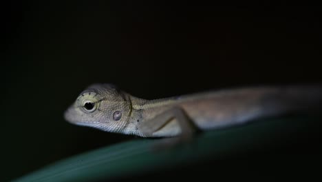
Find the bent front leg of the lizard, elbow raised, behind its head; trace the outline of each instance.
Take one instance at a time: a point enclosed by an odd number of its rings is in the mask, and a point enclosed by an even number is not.
[[[184,110],[178,106],[158,114],[149,121],[144,121],[138,125],[139,130],[144,136],[151,137],[153,133],[167,125],[171,120],[176,119],[181,129],[181,133],[177,139],[180,141],[190,139],[197,130],[194,123],[189,119]]]

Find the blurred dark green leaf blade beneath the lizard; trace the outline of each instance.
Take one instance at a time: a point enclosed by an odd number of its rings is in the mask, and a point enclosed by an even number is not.
[[[160,139],[133,139],[72,156],[16,181],[97,181],[178,168],[208,159],[227,159],[269,145],[283,145],[307,134],[321,119],[284,117],[197,134],[190,143],[152,150]],[[283,141],[281,143],[281,141]]]

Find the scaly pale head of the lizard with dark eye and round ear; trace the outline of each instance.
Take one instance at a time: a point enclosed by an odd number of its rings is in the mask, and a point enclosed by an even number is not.
[[[129,94],[111,84],[94,84],[81,92],[65,111],[69,123],[107,132],[122,132],[131,115]]]

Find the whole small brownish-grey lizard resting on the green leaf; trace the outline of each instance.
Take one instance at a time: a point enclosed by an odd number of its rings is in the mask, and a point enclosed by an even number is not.
[[[197,131],[319,110],[321,103],[322,85],[253,86],[147,100],[113,84],[95,83],[79,94],[64,117],[106,132],[189,139]]]

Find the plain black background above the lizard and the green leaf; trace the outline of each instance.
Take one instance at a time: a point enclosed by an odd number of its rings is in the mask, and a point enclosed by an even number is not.
[[[321,82],[320,6],[2,3],[0,181],[133,136],[70,125],[92,83],[145,99]]]

